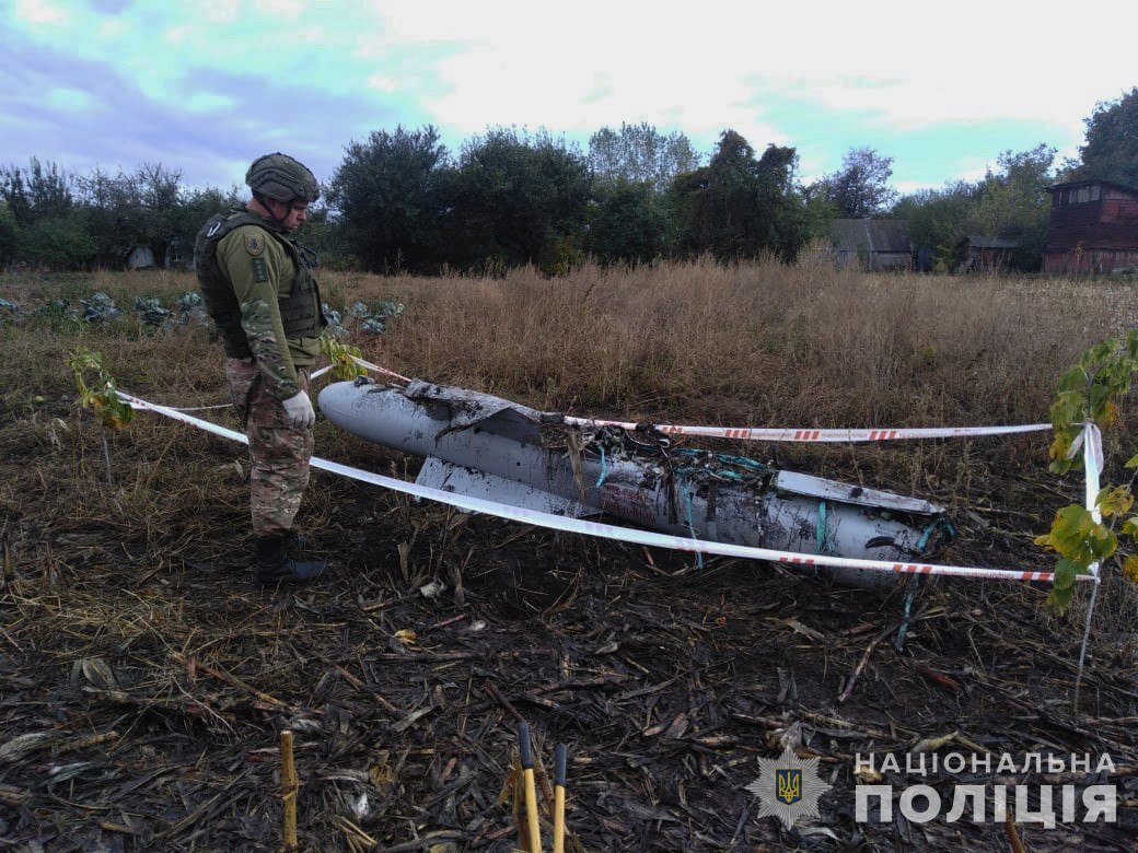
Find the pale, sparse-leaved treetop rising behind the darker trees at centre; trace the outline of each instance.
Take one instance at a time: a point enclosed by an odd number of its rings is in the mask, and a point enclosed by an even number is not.
[[[676,175],[699,165],[686,135],[677,131],[663,136],[646,122],[621,123],[619,131],[602,127],[588,140],[588,166],[603,183],[649,182],[662,191]]]

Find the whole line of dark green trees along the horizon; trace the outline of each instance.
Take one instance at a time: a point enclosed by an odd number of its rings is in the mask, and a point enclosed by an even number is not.
[[[495,127],[452,154],[434,126],[353,140],[300,239],[325,263],[370,272],[495,272],[534,264],[564,272],[584,258],[649,263],[710,254],[793,262],[824,241],[835,217],[901,218],[915,245],[954,268],[960,241],[1016,243],[1020,268],[1039,267],[1049,196],[1059,181],[1138,187],[1138,88],[1085,119],[1079,158],[1055,165],[1048,146],[1005,151],[974,182],[898,196],[893,160],[852,148],[841,168],[805,183],[792,147],[757,151],[733,130],[704,157],[683,133],[648,124],[604,127],[587,148],[550,133]],[[115,267],[149,250],[187,263],[201,222],[245,191],[193,189],[181,173],[69,175],[32,158],[0,167],[0,268]]]

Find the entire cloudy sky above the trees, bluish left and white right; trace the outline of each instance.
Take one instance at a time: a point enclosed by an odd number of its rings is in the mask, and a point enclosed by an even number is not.
[[[621,122],[793,146],[809,180],[850,148],[905,192],[1005,150],[1074,156],[1138,85],[1138,5],[702,0],[0,0],[0,164],[180,169],[241,183],[272,150],[328,181],[374,130],[569,142]],[[1119,40],[1112,47],[1112,38]]]

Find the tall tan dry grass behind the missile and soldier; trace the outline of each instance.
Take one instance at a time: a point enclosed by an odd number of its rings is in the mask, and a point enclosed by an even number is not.
[[[77,340],[104,350],[123,384],[167,401],[221,388],[220,347],[199,326],[155,333],[130,307],[193,290],[185,273],[0,278],[26,315],[94,291],[124,318],[52,329],[8,323],[13,382],[66,387],[58,357]],[[729,425],[966,425],[1046,420],[1058,373],[1125,328],[1135,285],[1001,278],[864,275],[776,263],[708,260],[586,266],[550,279],[418,279],[330,273],[325,300],[394,298],[382,336],[349,336],[405,373],[546,409]],[[22,356],[23,354],[23,356]],[[13,363],[15,358],[15,363]],[[61,381],[60,381],[61,380]]]

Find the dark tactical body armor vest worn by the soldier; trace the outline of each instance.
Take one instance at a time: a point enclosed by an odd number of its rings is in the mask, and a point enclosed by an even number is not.
[[[217,263],[217,243],[226,234],[241,225],[256,225],[273,235],[278,243],[284,247],[292,263],[296,264],[296,278],[292,280],[291,292],[278,299],[281,323],[286,338],[318,338],[321,330],[328,325],[320,303],[320,288],[312,274],[315,266],[315,255],[300,248],[282,232],[274,230],[261,216],[245,208],[234,208],[229,213],[218,213],[209,217],[193,242],[193,267],[201,287],[201,297],[206,310],[221,330],[225,345],[225,355],[230,358],[250,358],[253,351],[241,328],[241,306],[237,303],[233,289]],[[310,255],[313,260],[310,260]]]

